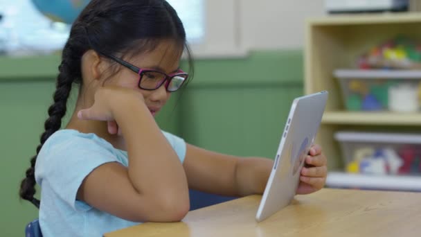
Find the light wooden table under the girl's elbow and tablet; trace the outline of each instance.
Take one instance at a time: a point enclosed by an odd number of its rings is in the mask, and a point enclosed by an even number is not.
[[[260,195],[190,211],[182,222],[147,222],[126,236],[421,236],[421,193],[322,189],[255,221]]]

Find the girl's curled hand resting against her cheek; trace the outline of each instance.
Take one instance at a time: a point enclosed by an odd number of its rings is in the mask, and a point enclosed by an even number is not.
[[[116,107],[124,106],[128,100],[143,101],[140,92],[123,87],[100,87],[94,96],[93,105],[78,112],[79,119],[108,121],[108,130],[111,134],[118,132],[114,119]],[[129,109],[129,108],[128,108]]]

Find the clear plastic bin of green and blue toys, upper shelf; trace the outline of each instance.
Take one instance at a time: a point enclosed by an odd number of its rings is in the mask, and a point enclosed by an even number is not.
[[[343,107],[350,111],[420,111],[421,70],[338,69]]]

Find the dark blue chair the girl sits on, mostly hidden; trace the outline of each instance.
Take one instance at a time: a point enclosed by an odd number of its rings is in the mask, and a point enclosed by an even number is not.
[[[190,190],[190,211],[202,207],[208,207],[221,202],[227,202],[235,199],[234,197],[225,197],[211,193],[204,193],[201,191]],[[25,228],[26,237],[42,237],[41,228],[39,227],[38,219],[33,220]]]

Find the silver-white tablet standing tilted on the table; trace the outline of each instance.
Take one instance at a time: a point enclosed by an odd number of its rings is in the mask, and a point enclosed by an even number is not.
[[[300,170],[319,130],[326,100],[327,91],[294,99],[256,214],[258,222],[283,209],[294,198]]]

